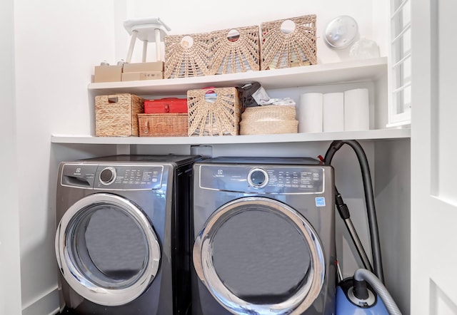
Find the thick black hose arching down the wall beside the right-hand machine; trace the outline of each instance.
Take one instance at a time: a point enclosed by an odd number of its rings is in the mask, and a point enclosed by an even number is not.
[[[380,281],[384,282],[383,267],[381,261],[381,243],[379,241],[378,220],[376,219],[376,208],[374,205],[373,184],[371,182],[370,167],[366,159],[363,148],[356,140],[336,140],[333,141],[326,152],[324,162],[331,164],[333,155],[343,145],[350,145],[357,155],[358,163],[361,167],[363,190],[365,192],[366,211],[368,217],[368,227],[371,239],[371,252],[373,254],[373,272]],[[338,191],[338,190],[336,190]]]

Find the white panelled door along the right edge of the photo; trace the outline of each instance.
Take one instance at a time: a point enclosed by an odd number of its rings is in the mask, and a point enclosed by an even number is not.
[[[457,314],[457,1],[414,0],[411,314]]]

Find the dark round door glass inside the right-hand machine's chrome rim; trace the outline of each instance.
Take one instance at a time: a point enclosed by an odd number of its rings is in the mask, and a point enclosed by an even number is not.
[[[311,257],[306,239],[285,217],[264,207],[249,207],[229,217],[212,244],[219,278],[250,303],[286,301],[308,277]]]

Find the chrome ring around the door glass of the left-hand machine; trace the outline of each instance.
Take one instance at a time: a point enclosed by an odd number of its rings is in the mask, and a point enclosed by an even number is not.
[[[131,217],[139,224],[146,237],[146,243],[149,249],[146,267],[134,284],[123,289],[107,289],[97,286],[79,271],[70,258],[71,254],[69,251],[71,248],[68,248],[66,238],[69,223],[75,215],[81,215],[81,212],[84,212],[87,207],[97,204],[116,205],[127,210]],[[55,250],[59,269],[69,286],[85,299],[106,306],[123,305],[140,296],[148,288],[149,284],[151,284],[154,277],[156,277],[161,259],[159,241],[144,213],[141,212],[139,207],[129,202],[129,200],[106,193],[86,196],[69,207],[69,210],[65,212],[57,226]]]

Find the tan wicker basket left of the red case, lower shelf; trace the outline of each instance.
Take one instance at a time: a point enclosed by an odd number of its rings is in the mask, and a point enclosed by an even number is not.
[[[138,136],[137,114],[143,113],[144,99],[134,94],[95,97],[95,133],[98,137]]]

